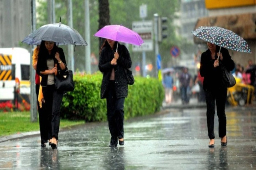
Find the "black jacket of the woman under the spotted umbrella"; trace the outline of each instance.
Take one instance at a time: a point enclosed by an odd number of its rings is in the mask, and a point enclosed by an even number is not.
[[[217,53],[219,52],[220,47],[216,46],[216,56],[215,60],[218,58]],[[235,63],[231,59],[229,52],[227,49],[221,47],[220,52],[222,53],[223,59],[219,59],[219,64],[223,64],[224,67],[228,71],[231,71],[235,68]],[[201,62],[200,62],[200,74],[204,77],[203,80],[203,89],[204,90],[213,90],[213,89],[220,89],[225,88],[224,84],[222,83],[222,70],[220,65],[214,68],[213,63],[215,60],[211,59],[211,51],[208,49],[201,55]]]

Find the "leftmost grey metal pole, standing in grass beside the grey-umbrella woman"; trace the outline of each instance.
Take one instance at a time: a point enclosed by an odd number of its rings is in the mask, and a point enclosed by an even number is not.
[[[31,24],[32,32],[34,32],[36,30],[36,0],[31,0],[31,23],[32,23]],[[33,49],[31,49],[31,54],[33,54]],[[32,57],[30,57],[30,121],[31,122],[37,122],[37,98],[36,98],[35,74],[36,74],[35,70],[32,66]]]

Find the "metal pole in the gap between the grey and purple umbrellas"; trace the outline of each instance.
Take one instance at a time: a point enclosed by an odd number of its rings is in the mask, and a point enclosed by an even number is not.
[[[89,11],[89,0],[84,0],[85,3],[85,41],[88,46],[85,46],[85,72],[91,74],[91,40],[90,40],[90,11]]]

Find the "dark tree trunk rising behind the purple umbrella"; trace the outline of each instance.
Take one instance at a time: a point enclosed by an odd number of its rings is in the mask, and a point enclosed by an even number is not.
[[[99,0],[99,30],[106,25],[110,25],[108,0]],[[99,38],[99,49],[104,42],[104,38]]]

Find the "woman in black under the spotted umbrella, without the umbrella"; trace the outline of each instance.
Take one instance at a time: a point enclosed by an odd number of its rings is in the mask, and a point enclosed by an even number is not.
[[[215,100],[217,107],[217,115],[219,118],[219,137],[221,138],[221,146],[226,146],[226,125],[227,118],[225,114],[225,104],[227,100],[227,87],[222,83],[222,70],[220,64],[231,71],[235,67],[234,61],[231,59],[229,52],[225,48],[221,48],[219,53],[219,46],[207,42],[208,50],[202,53],[200,61],[200,74],[204,77],[203,89],[207,104],[207,128],[208,136],[210,138],[209,148],[214,148],[214,114],[215,114]],[[219,55],[219,60],[217,60]]]

